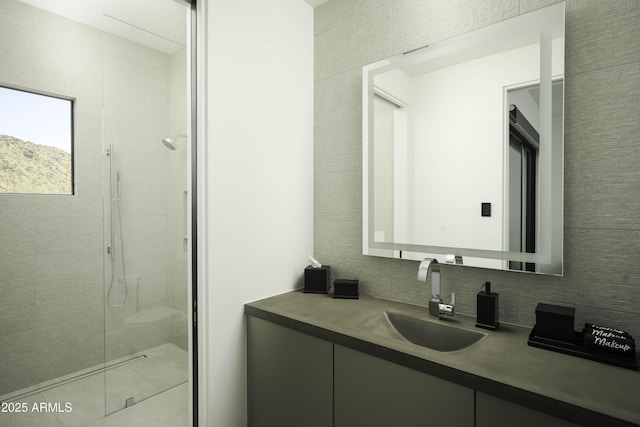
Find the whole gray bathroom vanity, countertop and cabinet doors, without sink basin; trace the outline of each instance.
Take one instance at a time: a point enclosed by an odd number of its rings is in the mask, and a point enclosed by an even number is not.
[[[422,351],[387,314],[424,311],[300,291],[245,305],[250,425],[640,427],[639,372],[527,346],[513,325],[468,351]]]

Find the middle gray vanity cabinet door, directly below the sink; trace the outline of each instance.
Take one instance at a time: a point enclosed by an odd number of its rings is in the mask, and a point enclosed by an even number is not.
[[[334,344],[334,426],[474,425],[470,388]]]

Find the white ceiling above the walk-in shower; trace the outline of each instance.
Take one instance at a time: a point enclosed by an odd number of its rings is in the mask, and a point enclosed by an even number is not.
[[[189,9],[180,0],[20,1],[167,53],[186,45]]]

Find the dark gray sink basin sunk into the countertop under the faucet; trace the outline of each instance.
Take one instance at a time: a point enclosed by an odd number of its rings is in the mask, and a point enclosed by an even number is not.
[[[384,314],[393,329],[404,339],[432,350],[442,352],[463,350],[487,336],[484,332],[416,319],[399,313],[385,311]]]

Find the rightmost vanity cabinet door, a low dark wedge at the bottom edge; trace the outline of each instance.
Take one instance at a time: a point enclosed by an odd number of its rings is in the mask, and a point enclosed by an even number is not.
[[[476,392],[476,427],[579,427],[545,413]]]

